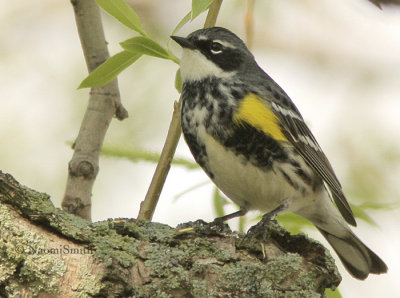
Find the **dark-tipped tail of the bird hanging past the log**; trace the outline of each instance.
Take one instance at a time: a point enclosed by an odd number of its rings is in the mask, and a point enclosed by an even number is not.
[[[341,229],[336,235],[323,228],[317,228],[335,250],[347,271],[355,278],[365,279],[370,273],[387,272],[387,266],[381,258],[362,243],[347,225],[345,230]]]

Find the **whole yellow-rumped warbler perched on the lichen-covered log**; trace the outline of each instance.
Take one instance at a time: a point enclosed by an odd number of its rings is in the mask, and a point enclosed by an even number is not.
[[[386,272],[346,224],[356,225],[353,212],[300,112],[243,41],[220,27],[171,38],[183,49],[185,140],[211,180],[241,208],[223,219],[252,209],[292,212],[318,228],[354,277]]]

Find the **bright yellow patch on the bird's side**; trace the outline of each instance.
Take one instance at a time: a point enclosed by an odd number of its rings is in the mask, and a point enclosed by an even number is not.
[[[277,141],[287,141],[279,126],[279,120],[257,95],[250,93],[240,103],[238,110],[233,115],[237,124],[247,122],[255,128],[261,129]]]

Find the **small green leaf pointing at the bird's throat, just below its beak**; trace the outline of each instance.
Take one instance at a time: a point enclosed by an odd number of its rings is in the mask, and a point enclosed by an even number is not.
[[[130,52],[168,59],[179,64],[178,58],[172,56],[166,49],[149,37],[136,36],[121,42],[121,46],[124,50]]]

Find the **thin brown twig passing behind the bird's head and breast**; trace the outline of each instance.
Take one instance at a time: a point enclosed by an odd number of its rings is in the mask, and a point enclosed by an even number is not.
[[[204,28],[215,26],[219,9],[222,0],[214,0],[208,9]],[[140,204],[138,219],[151,220],[158,203],[165,180],[167,179],[168,171],[171,167],[171,161],[174,156],[176,146],[178,145],[181,136],[181,120],[180,120],[180,101],[174,103],[174,113],[169,125],[167,138],[161,152],[160,161],[157,164],[156,170],[151,180],[144,201]]]

